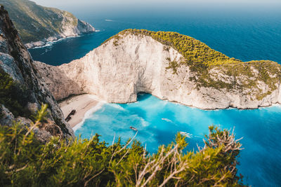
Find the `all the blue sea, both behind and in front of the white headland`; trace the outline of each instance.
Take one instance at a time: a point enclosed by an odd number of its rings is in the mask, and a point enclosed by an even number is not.
[[[164,1],[166,2],[166,1]],[[176,7],[176,8],[175,8]],[[281,64],[280,6],[175,6],[160,7],[58,7],[71,11],[96,27],[96,32],[47,43],[30,49],[34,60],[60,65],[79,59],[100,46],[105,39],[124,29],[178,32],[192,36],[211,48],[244,62],[273,60]],[[234,130],[244,148],[238,158],[243,182],[251,186],[281,186],[281,106],[254,110],[204,111],[162,101],[149,94],[138,95],[130,104],[102,104],[89,113],[75,134],[90,138],[100,134],[111,144],[114,137],[133,137],[155,153],[169,144],[177,132],[188,133],[188,150],[203,146],[209,125]]]

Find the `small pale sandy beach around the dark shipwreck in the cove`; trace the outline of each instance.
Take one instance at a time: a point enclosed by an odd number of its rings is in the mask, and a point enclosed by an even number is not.
[[[73,128],[75,125],[81,123],[85,116],[85,113],[96,106],[98,103],[98,99],[95,95],[85,94],[66,99],[63,102],[60,102],[59,105],[60,109],[63,111],[63,116],[65,116],[65,118],[68,116],[68,114],[70,114],[72,110],[76,110],[74,116],[71,116],[71,120],[68,121],[70,126]]]

